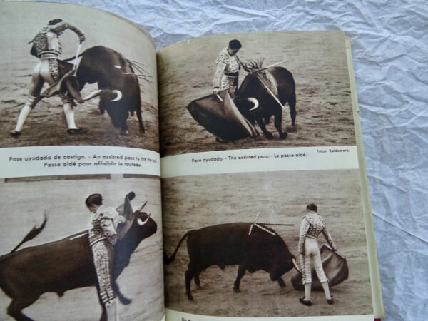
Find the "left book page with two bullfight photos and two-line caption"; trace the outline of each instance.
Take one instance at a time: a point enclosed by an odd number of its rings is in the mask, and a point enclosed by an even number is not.
[[[0,320],[164,320],[153,40],[84,6],[0,14]]]

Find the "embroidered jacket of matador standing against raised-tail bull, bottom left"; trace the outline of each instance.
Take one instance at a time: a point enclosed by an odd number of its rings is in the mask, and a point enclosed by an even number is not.
[[[126,218],[119,215],[114,208],[101,205],[93,214],[91,228],[89,228],[89,244],[92,246],[100,240],[108,240],[115,245],[118,240],[116,228],[119,223],[125,222]]]

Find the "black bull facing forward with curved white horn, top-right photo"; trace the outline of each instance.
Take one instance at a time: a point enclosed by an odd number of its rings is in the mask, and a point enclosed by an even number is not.
[[[254,125],[257,122],[268,139],[272,139],[273,135],[267,131],[266,125],[273,116],[280,138],[287,138],[287,131],[282,131],[282,106],[285,103],[290,108],[290,131],[295,131],[296,120],[295,81],[292,73],[278,66],[262,68],[261,62],[243,64],[243,68],[248,71],[248,75],[234,99],[236,107],[250,123]],[[254,108],[252,99],[257,100],[258,108]]]

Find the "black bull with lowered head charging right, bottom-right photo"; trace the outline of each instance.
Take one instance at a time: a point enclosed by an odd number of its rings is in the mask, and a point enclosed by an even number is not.
[[[185,292],[189,300],[193,300],[190,282],[194,278],[200,286],[199,273],[211,265],[224,269],[226,265],[238,265],[238,275],[233,283],[233,290],[240,291],[240,280],[245,271],[264,270],[269,273],[270,280],[277,281],[281,287],[285,282],[281,276],[292,270],[295,256],[288,250],[287,244],[272,229],[272,235],[265,230],[253,226],[252,223],[226,223],[208,226],[200,230],[190,230],[183,235],[170,258],[164,253],[164,263],[169,264],[175,259],[178,248],[185,238],[190,262],[185,271]],[[251,233],[250,232],[251,228]]]

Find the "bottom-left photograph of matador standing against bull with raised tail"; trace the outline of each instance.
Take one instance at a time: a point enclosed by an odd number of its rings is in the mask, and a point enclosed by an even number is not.
[[[162,320],[159,178],[0,183],[0,320]]]

